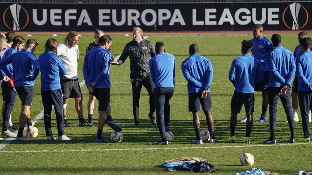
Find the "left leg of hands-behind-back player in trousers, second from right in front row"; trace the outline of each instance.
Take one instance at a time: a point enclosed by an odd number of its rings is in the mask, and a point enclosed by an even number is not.
[[[270,138],[264,140],[262,143],[276,143],[275,129],[276,129],[276,118],[277,118],[277,105],[279,100],[280,88],[269,88],[268,100],[269,100],[269,113],[270,113]]]

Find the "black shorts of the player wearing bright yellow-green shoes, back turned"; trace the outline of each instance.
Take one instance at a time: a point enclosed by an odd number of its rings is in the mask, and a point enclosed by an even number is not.
[[[231,110],[240,113],[242,105],[245,106],[246,113],[254,112],[254,93],[241,93],[234,91],[231,99]]]

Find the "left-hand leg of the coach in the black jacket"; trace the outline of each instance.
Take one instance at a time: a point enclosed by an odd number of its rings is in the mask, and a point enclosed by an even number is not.
[[[143,82],[131,79],[131,87],[132,87],[132,109],[133,109],[133,117],[135,119],[135,127],[139,127],[139,111],[140,111],[140,95],[141,95],[141,88]]]

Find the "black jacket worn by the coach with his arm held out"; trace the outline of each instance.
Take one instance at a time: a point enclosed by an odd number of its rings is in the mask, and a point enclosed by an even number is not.
[[[119,65],[130,57],[130,78],[145,79],[150,76],[149,61],[155,56],[155,48],[151,41],[143,39],[140,44],[131,41],[126,44],[120,58],[117,60]]]

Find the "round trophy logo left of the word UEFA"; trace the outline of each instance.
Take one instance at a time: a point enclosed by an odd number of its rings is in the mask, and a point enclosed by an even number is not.
[[[11,15],[12,15],[12,18],[13,18],[13,23],[8,23],[7,21],[10,21],[8,20],[7,18],[10,18],[9,16],[6,17],[7,15],[7,11],[10,9],[11,11]],[[25,19],[26,20],[22,20],[20,21],[20,15],[21,13],[23,13],[22,15],[22,19]],[[26,22],[25,22],[26,21]],[[10,29],[10,30],[14,30],[14,31],[19,31],[19,30],[22,30],[24,29],[28,22],[29,22],[29,14],[28,12],[26,11],[25,8],[23,8],[20,4],[13,4],[13,5],[10,5],[9,8],[5,9],[4,13],[3,13],[3,22],[4,22],[4,25]],[[22,27],[20,26],[20,24],[24,24],[22,25]]]

